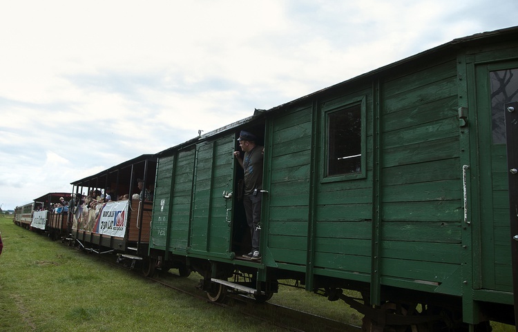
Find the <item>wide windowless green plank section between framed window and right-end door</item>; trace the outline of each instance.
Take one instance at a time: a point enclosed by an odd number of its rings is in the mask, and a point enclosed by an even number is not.
[[[381,275],[439,285],[461,264],[455,59],[381,85]]]

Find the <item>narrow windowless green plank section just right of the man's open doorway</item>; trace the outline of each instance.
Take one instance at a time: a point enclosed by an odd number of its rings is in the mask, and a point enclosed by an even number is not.
[[[306,264],[311,121],[311,106],[272,121],[267,245],[278,263]]]

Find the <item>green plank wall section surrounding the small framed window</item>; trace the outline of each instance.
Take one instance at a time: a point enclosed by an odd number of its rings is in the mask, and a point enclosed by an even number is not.
[[[371,271],[372,253],[372,82],[365,81],[349,86],[342,93],[319,101],[319,117],[327,110],[341,108],[352,100],[365,98],[366,113],[365,158],[366,176],[359,179],[345,179],[324,182],[324,163],[316,168],[315,189],[315,245],[314,268],[316,273],[335,276],[346,274],[352,279],[365,280],[362,276]],[[327,130],[321,120],[318,135],[325,137]],[[325,141],[320,139],[318,157],[325,160]],[[329,179],[329,178],[328,178]]]

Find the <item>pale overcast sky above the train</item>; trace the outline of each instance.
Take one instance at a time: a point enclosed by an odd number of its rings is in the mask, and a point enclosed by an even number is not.
[[[517,17],[517,0],[2,1],[0,207]]]

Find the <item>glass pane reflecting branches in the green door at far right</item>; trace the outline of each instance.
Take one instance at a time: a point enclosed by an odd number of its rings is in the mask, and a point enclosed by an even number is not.
[[[506,124],[503,121],[503,104],[518,98],[518,69],[490,72],[493,144],[506,143]]]

